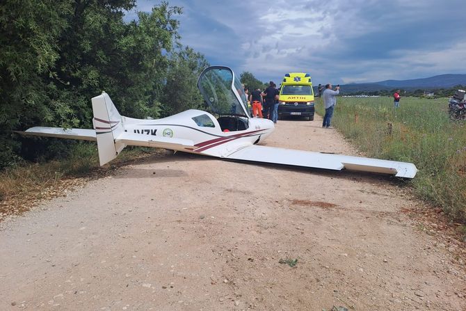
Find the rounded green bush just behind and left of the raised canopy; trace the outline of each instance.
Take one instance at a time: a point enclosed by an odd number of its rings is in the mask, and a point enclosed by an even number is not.
[[[172,115],[190,108],[202,107],[197,81],[209,63],[190,47],[175,51],[170,58],[166,85],[163,88],[163,115]]]

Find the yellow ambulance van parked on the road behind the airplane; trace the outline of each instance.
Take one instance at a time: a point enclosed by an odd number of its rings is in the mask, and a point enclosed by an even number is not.
[[[285,74],[278,98],[278,118],[298,115],[314,120],[314,90],[311,75],[304,72]]]

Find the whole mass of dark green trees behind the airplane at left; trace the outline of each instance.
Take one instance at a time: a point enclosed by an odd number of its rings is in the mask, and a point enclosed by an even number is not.
[[[0,3],[0,168],[18,159],[11,130],[91,127],[90,98],[102,90],[134,118],[202,102],[193,77],[207,61],[192,49],[173,51],[181,8],[161,2],[124,22],[124,11],[134,7],[135,0]],[[177,84],[177,75],[188,79]],[[49,154],[70,144],[52,142]]]

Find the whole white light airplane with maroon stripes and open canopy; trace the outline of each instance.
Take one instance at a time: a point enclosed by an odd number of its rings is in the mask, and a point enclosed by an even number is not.
[[[128,118],[118,113],[109,95],[102,93],[92,99],[94,129],[31,127],[20,133],[97,141],[101,166],[115,159],[127,145],[136,145],[266,164],[345,168],[405,178],[416,175],[416,166],[405,162],[257,145],[275,126],[271,120],[251,118],[243,87],[229,67],[204,70],[198,88],[218,118],[195,109],[158,120]]]

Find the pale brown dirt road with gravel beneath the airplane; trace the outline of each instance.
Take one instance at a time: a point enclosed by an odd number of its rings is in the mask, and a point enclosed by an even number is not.
[[[267,144],[356,154],[320,120]],[[154,157],[0,223],[0,310],[466,310],[413,204],[378,175]]]

